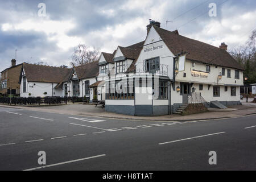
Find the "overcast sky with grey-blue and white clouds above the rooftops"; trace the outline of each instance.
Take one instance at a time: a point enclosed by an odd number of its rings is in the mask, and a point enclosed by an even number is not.
[[[38,16],[39,3],[46,16]],[[209,3],[217,16],[210,17]],[[191,0],[0,0],[0,71],[24,61],[69,65],[79,43],[112,53],[146,38],[148,19],[180,35],[228,49],[246,42],[256,28],[256,1]]]

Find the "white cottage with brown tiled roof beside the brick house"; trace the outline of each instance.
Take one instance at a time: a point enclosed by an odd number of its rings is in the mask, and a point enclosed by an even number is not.
[[[22,64],[20,71],[20,97],[64,96],[63,82],[72,69]]]

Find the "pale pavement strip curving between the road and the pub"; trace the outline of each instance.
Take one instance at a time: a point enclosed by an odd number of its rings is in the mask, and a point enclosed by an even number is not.
[[[227,109],[209,108],[209,112],[198,113],[191,115],[160,115],[152,117],[133,116],[125,114],[117,114],[106,112],[102,107],[94,105],[83,105],[83,104],[68,104],[60,106],[44,106],[44,107],[26,107],[26,106],[9,106],[0,105],[2,107],[12,107],[16,109],[26,109],[31,111],[44,111],[59,114],[75,114],[84,115],[89,117],[101,117],[101,118],[113,118],[113,119],[129,119],[137,121],[193,121],[193,120],[204,120],[204,119],[220,119],[230,117],[240,117],[243,115],[250,115],[256,113],[256,103],[251,103],[246,100],[241,100],[242,105],[229,106]]]

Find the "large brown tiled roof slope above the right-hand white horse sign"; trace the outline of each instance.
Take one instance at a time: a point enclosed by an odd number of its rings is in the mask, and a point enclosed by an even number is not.
[[[154,26],[154,28],[170,51],[175,55],[181,51],[185,51],[189,53],[186,56],[186,59],[189,60],[243,70],[241,65],[224,49],[186,38],[185,36],[179,35],[177,31],[171,32],[157,26]]]

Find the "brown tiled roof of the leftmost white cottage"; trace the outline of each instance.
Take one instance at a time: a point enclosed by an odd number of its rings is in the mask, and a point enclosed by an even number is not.
[[[67,81],[72,69],[23,63],[27,81],[59,83]]]

